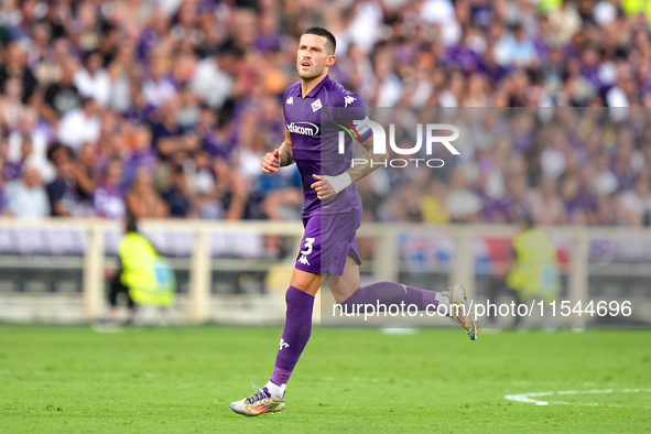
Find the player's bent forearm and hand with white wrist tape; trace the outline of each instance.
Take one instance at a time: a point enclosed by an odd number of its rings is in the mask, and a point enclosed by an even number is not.
[[[317,181],[312,184],[312,188],[316,191],[316,196],[319,199],[325,200],[333,197],[350,184],[358,182],[362,177],[369,175],[376,169],[384,165],[388,154],[373,153],[372,135],[365,140],[361,145],[365,149],[365,154],[361,159],[356,159],[356,161],[364,161],[364,163],[355,163],[355,165],[347,172],[344,172],[337,176],[313,175]]]

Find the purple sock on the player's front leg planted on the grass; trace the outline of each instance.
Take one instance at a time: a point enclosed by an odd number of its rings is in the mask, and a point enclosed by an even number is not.
[[[285,301],[287,303],[285,328],[280,339],[275,367],[271,375],[271,382],[276,386],[287,383],[312,334],[314,295],[290,286],[285,294]]]

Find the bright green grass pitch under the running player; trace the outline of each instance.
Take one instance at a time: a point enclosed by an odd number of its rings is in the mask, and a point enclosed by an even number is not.
[[[0,326],[2,433],[642,432],[651,332],[315,328],[286,409],[237,416],[281,329]],[[554,392],[535,395],[533,392]],[[561,393],[557,393],[561,392]],[[507,394],[547,400],[517,402]],[[538,397],[538,398],[535,398]]]

